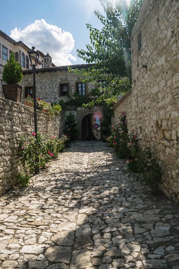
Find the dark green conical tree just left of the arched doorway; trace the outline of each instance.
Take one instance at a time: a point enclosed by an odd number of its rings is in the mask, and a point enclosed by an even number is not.
[[[78,136],[78,129],[75,115],[72,112],[67,115],[65,125],[66,134],[70,137],[72,141],[75,140]]]

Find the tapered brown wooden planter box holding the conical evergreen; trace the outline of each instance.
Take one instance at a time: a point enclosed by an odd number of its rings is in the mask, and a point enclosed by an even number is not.
[[[22,86],[18,84],[2,85],[4,97],[8,100],[21,103]]]

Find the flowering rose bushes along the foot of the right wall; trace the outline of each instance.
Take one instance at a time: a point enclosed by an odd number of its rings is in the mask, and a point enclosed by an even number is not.
[[[144,150],[138,145],[137,137],[132,129],[127,131],[126,114],[121,113],[119,123],[110,127],[111,135],[107,138],[110,146],[113,146],[119,158],[127,159],[128,168],[132,172],[142,173],[137,176],[141,182],[145,182],[154,192],[158,191],[161,182],[161,169],[158,166],[151,149]]]

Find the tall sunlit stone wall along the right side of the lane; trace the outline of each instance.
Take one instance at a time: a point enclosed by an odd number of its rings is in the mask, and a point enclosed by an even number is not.
[[[179,1],[145,0],[131,39],[132,91],[118,102],[112,121],[127,113],[128,129],[155,152],[162,191],[178,204]]]

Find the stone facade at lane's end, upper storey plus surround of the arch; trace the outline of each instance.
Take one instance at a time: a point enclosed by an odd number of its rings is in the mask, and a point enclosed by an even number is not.
[[[62,69],[65,67],[62,67]],[[81,82],[82,79],[80,76],[73,72],[69,72],[67,70],[58,70],[59,68],[44,68],[40,71],[37,71],[36,74],[36,97],[41,98],[44,101],[50,102],[50,103],[58,103],[59,100],[67,100],[67,96],[61,96],[60,93],[60,84],[61,83],[68,83],[68,95],[73,96],[73,94],[76,92],[76,83]],[[67,68],[66,68],[67,69]],[[29,74],[28,71],[24,72],[24,77],[22,82],[20,83],[22,85],[22,97],[21,102],[23,103],[25,100],[25,87],[33,86],[33,74]],[[94,88],[94,84],[92,83],[85,83],[85,94],[89,94],[92,88]],[[100,106],[94,106],[92,108],[85,108],[85,107],[77,107],[77,110],[71,111],[77,120],[78,124],[78,140],[82,139],[82,128],[81,123],[84,116],[87,114],[94,114],[97,113],[102,115],[101,107]],[[67,116],[70,113],[70,111],[66,111],[65,115]]]

